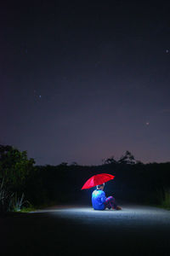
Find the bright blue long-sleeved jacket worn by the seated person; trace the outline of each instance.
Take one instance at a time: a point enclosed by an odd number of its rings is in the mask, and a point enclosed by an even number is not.
[[[92,193],[92,205],[94,210],[105,210],[105,192],[100,189],[95,189]]]

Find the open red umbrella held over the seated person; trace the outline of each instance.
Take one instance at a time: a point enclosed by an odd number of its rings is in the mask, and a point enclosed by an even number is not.
[[[114,179],[115,176],[108,173],[100,173],[90,177],[86,183],[82,186],[82,189],[90,189],[94,186],[106,183],[107,181]]]

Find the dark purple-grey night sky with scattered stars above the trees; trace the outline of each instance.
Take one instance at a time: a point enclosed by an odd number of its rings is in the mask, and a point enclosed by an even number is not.
[[[168,1],[7,2],[0,143],[37,165],[170,160]]]

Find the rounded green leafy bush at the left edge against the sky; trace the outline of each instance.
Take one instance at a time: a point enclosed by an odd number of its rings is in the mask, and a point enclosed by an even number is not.
[[[18,189],[26,181],[33,164],[26,151],[20,152],[12,146],[0,145],[0,178],[4,178],[8,189]]]

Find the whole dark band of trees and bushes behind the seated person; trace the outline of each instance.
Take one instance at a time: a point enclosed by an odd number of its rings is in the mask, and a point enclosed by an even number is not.
[[[26,151],[0,145],[0,211],[20,209],[23,194],[33,206],[90,204],[94,188],[81,190],[82,185],[102,172],[115,175],[114,180],[106,183],[105,193],[117,201],[161,204],[167,196],[169,205],[169,192],[165,191],[170,189],[170,162],[143,164],[127,151],[119,160],[111,157],[100,166],[35,166]]]

